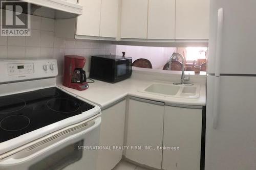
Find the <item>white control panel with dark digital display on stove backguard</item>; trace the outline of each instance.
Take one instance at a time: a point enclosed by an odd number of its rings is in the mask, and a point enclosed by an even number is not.
[[[8,64],[7,71],[9,76],[33,74],[34,64],[33,63]]]

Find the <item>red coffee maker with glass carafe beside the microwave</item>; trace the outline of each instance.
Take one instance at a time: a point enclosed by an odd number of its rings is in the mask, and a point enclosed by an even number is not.
[[[65,56],[63,85],[77,90],[86,90],[89,85],[86,81],[86,71],[82,68],[86,58],[76,55]]]

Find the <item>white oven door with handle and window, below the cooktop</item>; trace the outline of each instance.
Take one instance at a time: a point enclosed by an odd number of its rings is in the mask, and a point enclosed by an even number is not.
[[[96,169],[99,115],[0,155],[1,170]]]

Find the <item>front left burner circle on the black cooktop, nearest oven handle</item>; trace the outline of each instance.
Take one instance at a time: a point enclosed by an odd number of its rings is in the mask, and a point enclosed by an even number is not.
[[[11,115],[0,122],[0,127],[6,131],[19,131],[29,126],[30,119],[24,115]]]

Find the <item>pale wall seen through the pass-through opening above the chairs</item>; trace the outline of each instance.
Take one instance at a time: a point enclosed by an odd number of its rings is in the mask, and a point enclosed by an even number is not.
[[[176,47],[154,47],[154,46],[131,46],[117,45],[116,54],[132,57],[133,61],[139,58],[145,58],[151,61],[153,69],[162,69],[168,62],[169,57],[176,53]]]

